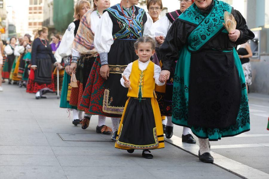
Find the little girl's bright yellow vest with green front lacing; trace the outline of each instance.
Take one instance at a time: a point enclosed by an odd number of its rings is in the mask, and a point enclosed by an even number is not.
[[[129,89],[127,96],[139,98],[139,91],[141,91],[142,98],[155,97],[155,79],[154,77],[154,63],[149,62],[146,70],[139,69],[138,60],[133,62],[132,72],[130,74],[130,82],[132,90]]]

